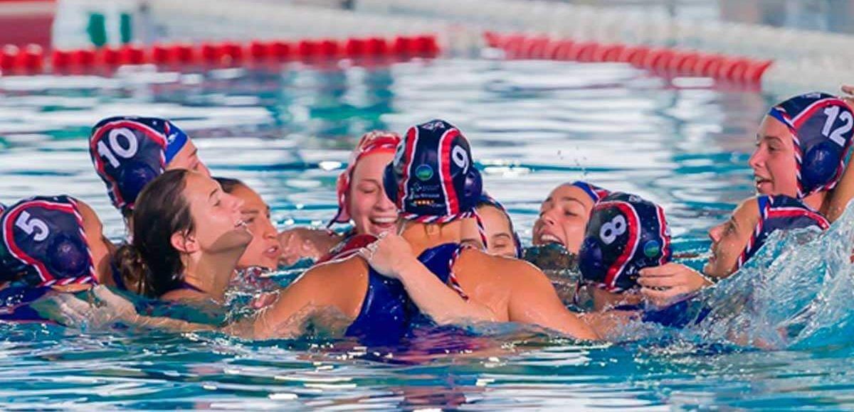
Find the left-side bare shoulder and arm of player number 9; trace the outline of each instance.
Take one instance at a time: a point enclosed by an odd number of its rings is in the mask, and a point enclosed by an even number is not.
[[[282,289],[254,321],[255,338],[300,334],[305,322],[334,310],[351,322],[359,316],[367,290],[368,266],[358,256],[319,264]]]

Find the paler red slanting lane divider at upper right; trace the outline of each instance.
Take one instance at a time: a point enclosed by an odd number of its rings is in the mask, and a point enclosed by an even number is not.
[[[510,59],[559,61],[619,61],[656,73],[717,78],[734,83],[758,84],[773,61],[745,56],[706,54],[696,50],[652,48],[644,45],[576,42],[521,34],[485,32],[489,47],[503,49]]]

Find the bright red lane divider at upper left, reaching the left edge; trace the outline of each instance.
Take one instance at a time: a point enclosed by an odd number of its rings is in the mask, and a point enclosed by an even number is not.
[[[37,74],[42,73],[45,66],[49,66],[54,72],[64,72],[149,63],[235,66],[266,61],[313,62],[349,58],[436,57],[439,52],[439,44],[432,35],[300,41],[253,40],[246,44],[153,44],[148,47],[126,44],[100,49],[53,49],[47,55],[41,47],[34,44],[24,49],[6,45],[0,47],[0,71],[3,74]]]

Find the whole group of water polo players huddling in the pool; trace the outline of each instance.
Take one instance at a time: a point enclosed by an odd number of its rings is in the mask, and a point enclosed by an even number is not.
[[[854,196],[854,172],[845,167],[852,125],[851,101],[842,97],[816,92],[771,107],[749,161],[757,195],[709,230],[711,257],[697,271],[671,262],[663,207],[588,182],[553,189],[533,246],[523,247],[506,210],[485,191],[463,132],[441,119],[402,136],[361,137],[338,177],[330,222],[348,229],[281,233],[260,195],[211,177],[171,121],[103,119],[91,131],[91,160],[124,217],[126,240],[114,246],[91,207],[71,196],[0,206],[0,319],[70,324],[106,316],[251,339],[293,337],[312,326],[368,341],[401,339],[425,320],[518,322],[576,339],[606,339],[621,324],[615,319],[678,328],[698,320],[682,316],[681,303],[736,273],[772,232],[824,230],[839,218]],[[544,273],[553,268],[536,265],[548,248],[570,256],[566,269],[580,272],[563,299]],[[222,303],[236,276],[306,258],[310,269],[261,296],[260,310],[225,324],[148,316],[125,299]],[[42,301],[54,310],[40,309]],[[570,301],[587,311],[568,309]]]

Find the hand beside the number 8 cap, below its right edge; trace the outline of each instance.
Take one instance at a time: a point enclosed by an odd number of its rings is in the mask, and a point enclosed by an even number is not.
[[[667,307],[686,299],[711,281],[684,264],[663,264],[640,270],[640,294],[652,305]]]

